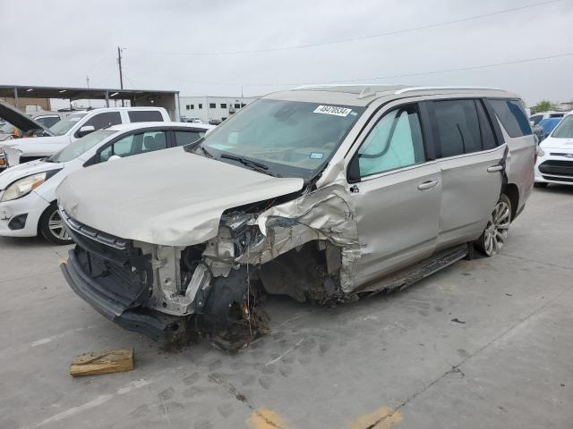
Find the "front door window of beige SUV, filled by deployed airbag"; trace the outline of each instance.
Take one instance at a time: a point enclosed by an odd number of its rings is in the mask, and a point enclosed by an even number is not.
[[[358,149],[360,176],[423,163],[422,127],[416,105],[384,114]]]

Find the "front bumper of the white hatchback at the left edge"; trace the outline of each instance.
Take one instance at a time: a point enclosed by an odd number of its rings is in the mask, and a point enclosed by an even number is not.
[[[0,196],[2,191],[0,191]],[[3,201],[0,203],[0,236],[4,237],[36,237],[38,235],[39,218],[47,209],[49,203],[32,191],[25,197]],[[24,227],[18,230],[10,228],[14,217],[27,214]]]

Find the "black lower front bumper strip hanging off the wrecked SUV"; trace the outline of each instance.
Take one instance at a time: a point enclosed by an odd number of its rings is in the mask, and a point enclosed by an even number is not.
[[[126,307],[124,302],[113,299],[81,269],[73,250],[68,261],[60,265],[66,282],[72,290],[99,314],[121,325],[128,331],[140,332],[159,342],[171,341],[182,328],[182,317],[164,315],[145,307]]]

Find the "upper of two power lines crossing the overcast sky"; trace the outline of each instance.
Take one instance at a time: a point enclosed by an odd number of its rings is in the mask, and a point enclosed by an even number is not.
[[[487,18],[487,17],[494,16],[494,15],[500,15],[503,13],[512,13],[512,12],[522,11],[524,9],[543,6],[546,4],[559,3],[562,1],[563,0],[549,0],[549,1],[541,2],[541,3],[527,4],[525,6],[503,9],[501,11],[492,12],[492,13],[482,13],[479,15],[468,16],[466,18],[459,18],[458,20],[440,21],[440,22],[434,22],[432,24],[422,25],[419,27],[412,27],[409,29],[397,29],[397,30],[393,30],[393,31],[385,31],[383,33],[372,34],[369,36],[359,36],[359,37],[355,37],[355,38],[343,38],[343,39],[339,39],[339,40],[331,40],[328,42],[319,42],[319,43],[309,43],[309,44],[305,44],[305,45],[278,46],[278,47],[269,47],[269,48],[263,48],[263,49],[248,49],[248,50],[238,50],[238,51],[187,52],[187,53],[185,53],[185,52],[167,52],[167,51],[150,51],[150,50],[143,50],[143,49],[137,49],[137,48],[130,48],[130,50],[133,50],[136,52],[143,52],[146,54],[158,54],[158,55],[216,56],[216,55],[259,54],[259,53],[266,53],[266,52],[286,51],[286,50],[293,50],[293,49],[304,49],[304,48],[308,48],[308,47],[327,46],[327,45],[335,45],[335,44],[339,44],[339,43],[356,42],[359,40],[366,40],[366,39],[371,39],[371,38],[382,38],[385,36],[392,36],[392,35],[396,35],[396,34],[412,32],[412,31],[419,31],[422,29],[433,29],[436,27],[444,26],[444,25],[451,25],[451,24],[457,24],[459,22],[478,20],[481,18]]]

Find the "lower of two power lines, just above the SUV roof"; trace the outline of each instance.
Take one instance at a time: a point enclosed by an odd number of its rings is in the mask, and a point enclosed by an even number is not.
[[[397,79],[397,78],[411,78],[415,76],[428,76],[432,74],[440,74],[440,73],[449,73],[452,71],[468,71],[468,70],[479,70],[479,69],[487,69],[492,67],[500,67],[504,65],[511,65],[511,64],[520,64],[520,63],[531,63],[534,61],[545,61],[551,60],[554,58],[562,58],[566,56],[573,56],[573,52],[564,53],[564,54],[556,54],[556,55],[547,55],[547,56],[537,56],[535,58],[524,58],[520,60],[514,61],[507,61],[503,63],[489,63],[489,64],[479,64],[479,65],[470,65],[466,67],[458,67],[454,69],[444,69],[444,70],[436,70],[436,71],[420,71],[415,73],[403,73],[403,74],[392,74],[386,76],[377,76],[373,78],[360,78],[360,79],[351,79],[351,80],[321,80],[321,81],[304,81],[304,82],[275,82],[275,83],[245,83],[245,82],[209,82],[209,81],[197,81],[197,80],[183,80],[178,78],[169,78],[167,76],[157,76],[152,75],[144,72],[140,72],[139,74],[149,76],[151,78],[156,79],[163,79],[163,80],[175,80],[184,83],[191,83],[194,85],[220,85],[220,86],[246,86],[246,87],[281,87],[281,86],[300,86],[300,85],[312,85],[312,84],[331,84],[331,83],[353,83],[353,82],[363,82],[363,81],[370,81],[370,80],[385,80],[385,79]]]

